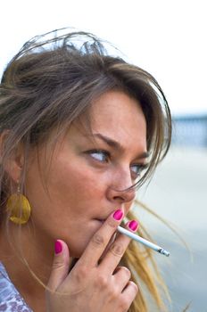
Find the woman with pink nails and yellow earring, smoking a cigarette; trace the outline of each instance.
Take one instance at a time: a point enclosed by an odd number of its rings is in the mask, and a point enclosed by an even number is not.
[[[138,280],[161,308],[151,251],[116,234],[169,149],[156,80],[91,34],[36,37],[4,70],[0,127],[0,310],[145,312]]]

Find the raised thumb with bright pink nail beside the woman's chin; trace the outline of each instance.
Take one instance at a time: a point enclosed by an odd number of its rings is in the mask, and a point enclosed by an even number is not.
[[[54,243],[54,262],[52,272],[47,283],[50,291],[56,291],[69,273],[69,249],[65,242],[57,240]]]

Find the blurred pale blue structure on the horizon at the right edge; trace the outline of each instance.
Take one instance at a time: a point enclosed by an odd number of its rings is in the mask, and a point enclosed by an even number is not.
[[[175,116],[172,144],[207,147],[207,115]]]

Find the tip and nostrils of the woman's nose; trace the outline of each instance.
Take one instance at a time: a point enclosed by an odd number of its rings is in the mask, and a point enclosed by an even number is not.
[[[121,176],[121,177],[120,177]],[[135,187],[131,187],[131,176],[129,173],[113,176],[113,181],[107,189],[107,199],[119,204],[133,201],[136,196]]]

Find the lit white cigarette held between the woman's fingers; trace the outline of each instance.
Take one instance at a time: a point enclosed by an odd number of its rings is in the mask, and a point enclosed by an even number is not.
[[[132,238],[133,240],[135,240],[137,242],[143,243],[146,247],[149,247],[152,250],[155,250],[155,251],[161,253],[161,255],[164,255],[166,257],[170,256],[170,252],[169,251],[164,250],[163,248],[161,248],[160,246],[156,245],[153,242],[149,242],[149,241],[145,240],[145,238],[142,238],[141,236],[139,236],[137,234],[129,232],[128,230],[126,230],[125,228],[123,228],[121,226],[118,226],[117,230],[121,234],[127,235],[128,237]]]

